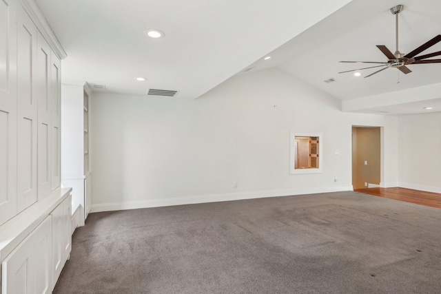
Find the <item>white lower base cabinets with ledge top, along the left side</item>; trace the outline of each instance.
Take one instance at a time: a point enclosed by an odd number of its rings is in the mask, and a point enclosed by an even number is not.
[[[0,227],[1,293],[52,293],[72,249],[71,189],[57,191]]]

